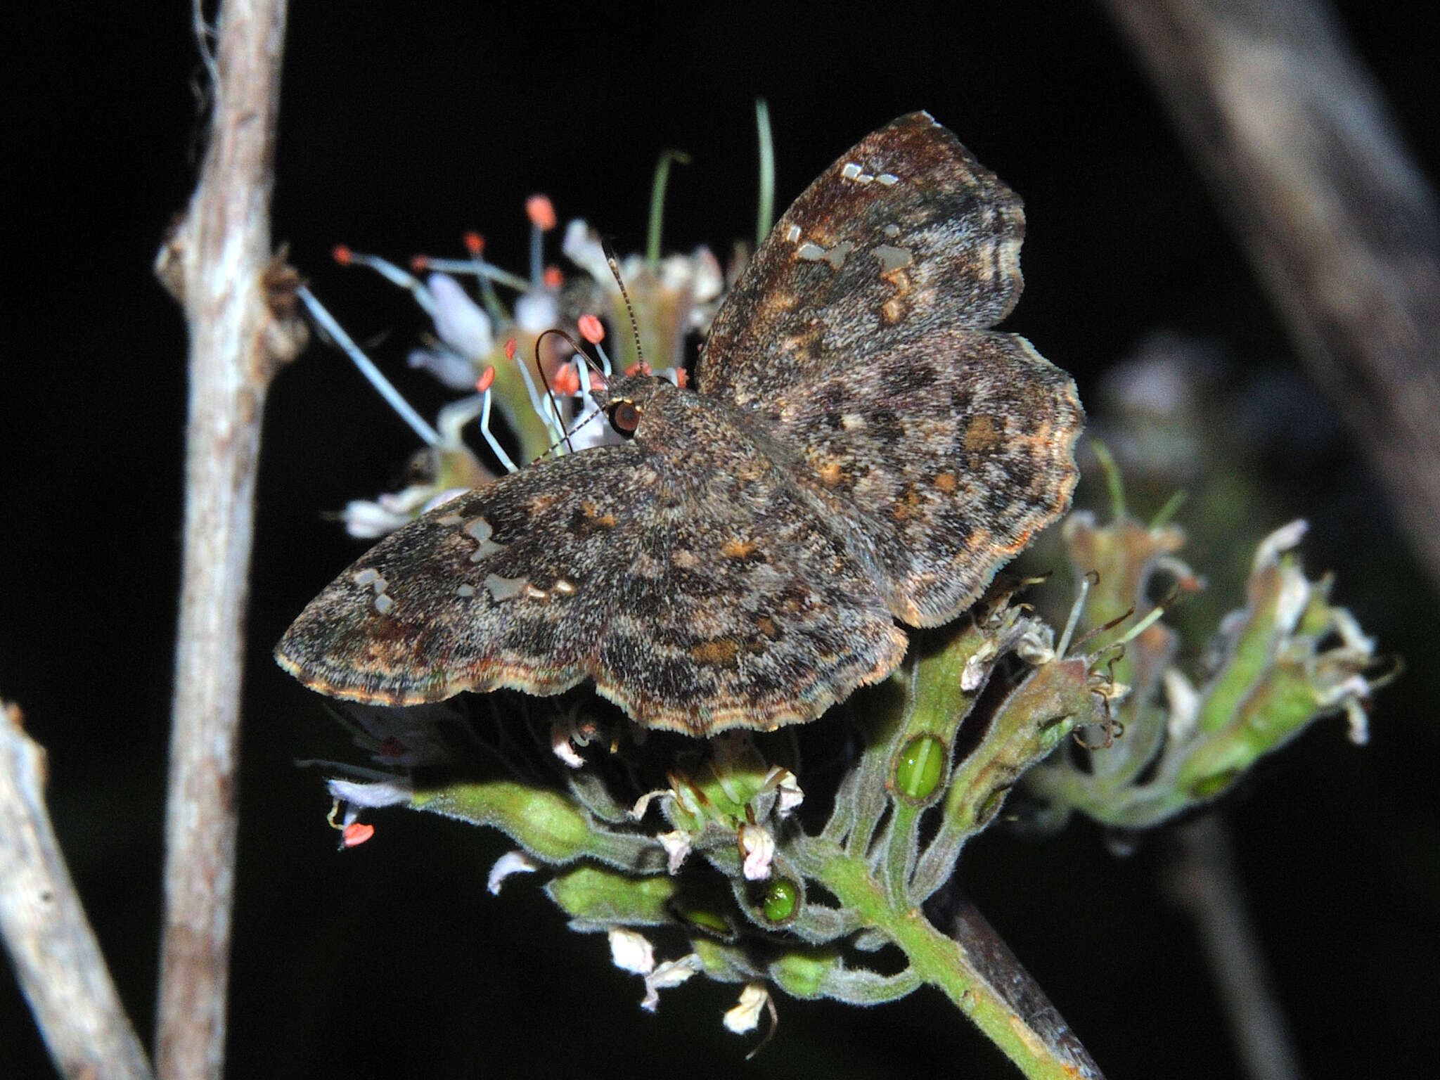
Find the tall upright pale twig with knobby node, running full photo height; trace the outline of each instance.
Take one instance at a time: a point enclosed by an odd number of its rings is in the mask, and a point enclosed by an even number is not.
[[[284,0],[228,0],[200,181],[157,272],[190,330],[184,567],[166,812],[156,1063],[219,1077],[235,878],[236,744],[261,409],[302,344],[269,239]],[[203,48],[203,43],[202,43]],[[276,318],[276,315],[282,315]]]

